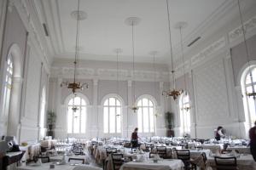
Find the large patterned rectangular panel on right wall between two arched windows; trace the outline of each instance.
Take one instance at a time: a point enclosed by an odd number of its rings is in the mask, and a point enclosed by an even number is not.
[[[224,60],[214,59],[195,70],[198,124],[212,124],[229,116]]]

